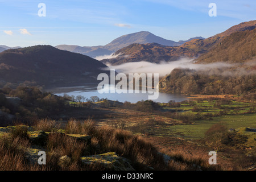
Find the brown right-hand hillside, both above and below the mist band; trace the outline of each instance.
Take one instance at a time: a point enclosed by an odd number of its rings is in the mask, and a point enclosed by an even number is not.
[[[237,94],[256,99],[256,28],[223,36],[218,44],[195,61],[201,64],[201,69],[174,69],[160,80],[160,91]],[[203,64],[211,66],[206,68]]]

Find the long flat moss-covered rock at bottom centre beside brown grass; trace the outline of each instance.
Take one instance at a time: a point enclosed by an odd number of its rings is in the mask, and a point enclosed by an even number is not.
[[[114,171],[134,171],[129,159],[118,156],[115,152],[100,155],[84,156],[81,158],[84,164],[100,164],[106,169]]]

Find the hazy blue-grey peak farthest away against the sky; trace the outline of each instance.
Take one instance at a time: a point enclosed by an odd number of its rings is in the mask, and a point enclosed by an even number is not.
[[[110,55],[115,51],[118,51],[123,47],[130,46],[131,44],[134,44],[134,43],[138,43],[138,44],[157,43],[163,46],[180,46],[192,39],[204,39],[204,38],[196,37],[196,38],[191,38],[189,40],[180,40],[179,42],[175,42],[172,40],[166,40],[166,39],[160,38],[159,36],[151,34],[148,31],[141,31],[133,34],[123,35],[117,39],[114,39],[112,42],[110,42],[109,44],[106,44],[105,46],[81,47],[81,46],[71,46],[71,45],[59,45],[59,46],[56,46],[56,48],[61,50],[81,53],[83,55],[87,55],[90,57],[97,57],[97,56]]]

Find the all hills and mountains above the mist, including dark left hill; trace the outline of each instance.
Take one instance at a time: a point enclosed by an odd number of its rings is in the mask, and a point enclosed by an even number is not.
[[[63,51],[52,46],[32,46],[11,48],[0,46],[0,85],[7,82],[20,84],[24,81],[36,81],[39,85],[69,86],[86,82],[96,82],[97,75],[105,64],[118,65],[134,61],[177,60],[180,57],[196,57],[196,63],[242,63],[243,68],[256,69],[256,20],[243,22],[210,38],[191,39],[177,43],[159,38],[150,32],[138,32],[121,36],[106,46],[87,47],[89,52],[115,51],[113,59],[98,61],[81,52],[86,47],[67,46]],[[157,41],[156,41],[157,40]],[[133,43],[135,41],[142,43]],[[153,43],[147,43],[153,42]],[[155,42],[160,42],[155,43]],[[165,44],[165,45],[163,45]],[[129,45],[123,47],[125,45]],[[169,46],[172,45],[172,46]],[[81,48],[81,49],[79,49]],[[92,49],[94,51],[92,51]],[[80,53],[74,53],[75,51]],[[247,64],[250,63],[250,64]],[[236,64],[237,65],[237,64]]]

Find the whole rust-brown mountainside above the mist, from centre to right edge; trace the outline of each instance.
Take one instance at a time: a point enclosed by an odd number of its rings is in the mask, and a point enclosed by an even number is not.
[[[250,21],[250,22],[243,22],[236,26],[233,26],[229,28],[228,30],[214,35],[207,39],[192,39],[189,42],[183,43],[181,46],[171,47],[171,46],[162,46],[160,44],[131,44],[130,46],[123,47],[122,49],[119,49],[116,51],[112,59],[104,59],[101,60],[104,64],[111,64],[111,65],[119,65],[123,63],[128,62],[137,62],[137,61],[148,61],[151,63],[159,63],[160,61],[173,61],[178,60],[179,57],[190,57],[190,58],[196,58],[198,56],[201,56],[199,58],[200,63],[208,63],[213,61],[221,61],[224,60],[224,57],[227,57],[229,55],[229,58],[231,59],[231,54],[236,55],[237,53],[242,54],[242,57],[246,57],[245,55],[250,55],[247,57],[251,57],[255,54],[255,34],[251,31],[255,30],[256,27],[256,20]],[[243,33],[249,31],[247,33]],[[238,33],[236,35],[233,35],[236,32],[242,32]],[[239,38],[239,36],[241,38]],[[230,38],[228,38],[230,36]],[[226,43],[226,41],[229,41],[229,44]],[[217,50],[220,51],[218,47],[222,44],[226,45],[225,51],[217,52]],[[246,49],[247,51],[246,51]],[[214,50],[213,51],[210,50]],[[231,52],[226,52],[229,50],[233,50]],[[235,51],[237,50],[237,51]],[[240,50],[240,52],[238,52]],[[209,52],[209,53],[208,53]],[[246,52],[246,53],[245,53]],[[208,54],[207,54],[208,53]],[[205,54],[205,55],[204,55]],[[221,56],[220,56],[221,55]],[[218,56],[218,59],[216,59],[216,56]],[[204,58],[203,58],[204,57]],[[211,57],[211,60],[209,59]],[[240,56],[241,57],[241,56]],[[236,60],[241,60],[236,57]],[[230,60],[232,61],[232,60]]]

